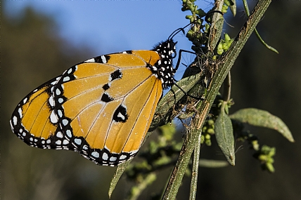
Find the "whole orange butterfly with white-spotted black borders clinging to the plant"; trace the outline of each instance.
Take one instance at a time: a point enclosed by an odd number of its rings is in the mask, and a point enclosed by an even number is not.
[[[13,133],[32,147],[72,150],[98,165],[132,158],[163,89],[174,84],[172,38],[184,28],[150,51],[91,58],[42,84],[15,108]]]

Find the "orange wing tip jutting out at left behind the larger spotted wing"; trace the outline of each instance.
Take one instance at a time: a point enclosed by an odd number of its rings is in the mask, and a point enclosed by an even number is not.
[[[27,145],[43,149],[72,149],[56,120],[53,86],[60,76],[51,79],[28,94],[15,108],[11,118],[12,131]]]

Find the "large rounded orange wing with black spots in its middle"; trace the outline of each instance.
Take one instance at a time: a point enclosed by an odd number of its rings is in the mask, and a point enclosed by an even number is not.
[[[117,165],[138,152],[162,95],[153,51],[102,55],[68,69],[53,88],[58,124],[80,154]]]

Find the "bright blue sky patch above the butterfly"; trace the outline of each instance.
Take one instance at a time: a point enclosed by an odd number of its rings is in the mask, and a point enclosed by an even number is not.
[[[212,1],[213,2],[213,1]],[[197,1],[209,10],[212,2]],[[58,34],[76,46],[90,46],[95,54],[131,49],[151,49],[167,39],[175,29],[188,24],[181,1],[6,1],[4,11],[18,15],[30,6],[39,13],[53,16]],[[190,50],[191,42],[178,34],[177,48]],[[188,63],[193,58],[184,55]],[[182,68],[183,72],[184,69]],[[177,78],[177,77],[176,77]]]

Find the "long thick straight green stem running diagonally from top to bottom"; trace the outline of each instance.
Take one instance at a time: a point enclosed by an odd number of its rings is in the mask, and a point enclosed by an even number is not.
[[[200,105],[200,114],[196,114],[195,118],[191,121],[191,126],[195,128],[193,128],[193,130],[191,131],[188,131],[189,134],[184,141],[179,159],[176,166],[174,166],[174,170],[172,171],[172,175],[169,178],[169,182],[162,199],[172,200],[176,198],[179,186],[181,185],[181,181],[184,177],[184,173],[188,165],[188,161],[191,158],[193,149],[196,147],[196,141],[198,135],[200,134],[200,128],[205,122],[207,114],[210,111],[219,88],[222,86],[226,75],[233,66],[236,58],[245,45],[245,42],[250,37],[250,34],[252,34],[258,22],[260,22],[262,15],[267,10],[270,3],[271,0],[258,1],[257,6],[255,6],[254,8],[254,11],[245,22],[245,25],[243,25],[241,31],[236,36],[236,39],[234,39],[233,43],[231,44],[229,51],[226,51],[226,53],[222,55],[222,64],[218,66],[219,68],[217,69],[217,72],[214,73],[212,83],[210,84],[210,88],[208,88],[207,91],[207,96]]]

